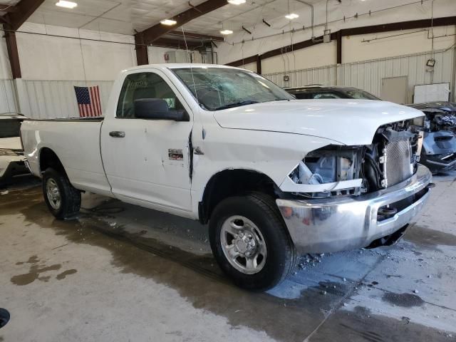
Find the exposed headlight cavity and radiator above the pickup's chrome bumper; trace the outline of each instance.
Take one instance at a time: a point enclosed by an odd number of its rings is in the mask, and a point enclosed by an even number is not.
[[[378,128],[371,145],[328,145],[309,152],[289,177],[296,184],[322,185],[361,179],[360,187],[323,192],[299,192],[308,198],[362,195],[398,184],[411,177],[420,161],[421,118]],[[333,187],[336,189],[336,186]]]

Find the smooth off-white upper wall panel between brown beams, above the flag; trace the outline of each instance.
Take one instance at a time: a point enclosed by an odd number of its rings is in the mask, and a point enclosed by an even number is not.
[[[20,31],[16,40],[27,80],[112,81],[136,65],[133,36],[32,23]]]

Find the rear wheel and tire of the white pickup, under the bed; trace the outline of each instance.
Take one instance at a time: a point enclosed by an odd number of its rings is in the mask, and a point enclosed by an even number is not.
[[[69,219],[81,209],[81,192],[71,185],[64,172],[48,167],[43,175],[43,196],[57,219]]]

